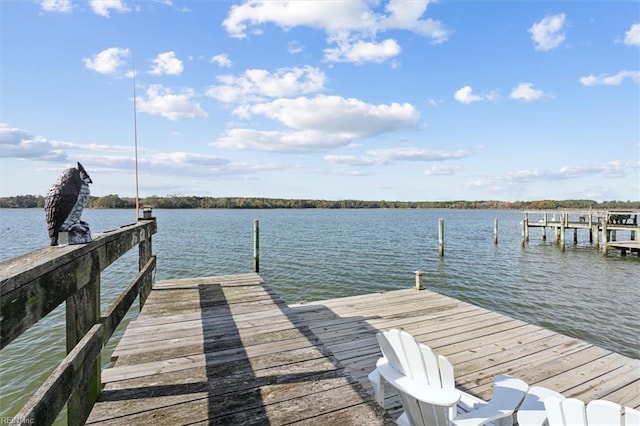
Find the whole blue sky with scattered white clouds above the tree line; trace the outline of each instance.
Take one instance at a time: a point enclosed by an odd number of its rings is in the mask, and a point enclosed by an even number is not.
[[[640,3],[9,0],[0,195],[640,199]],[[135,75],[135,80],[132,78]]]

